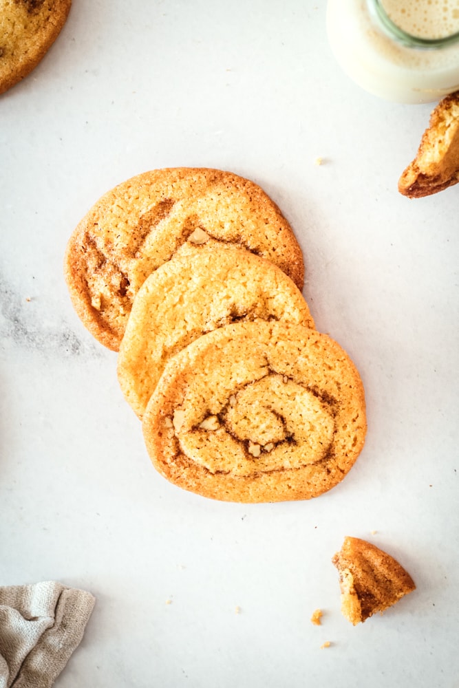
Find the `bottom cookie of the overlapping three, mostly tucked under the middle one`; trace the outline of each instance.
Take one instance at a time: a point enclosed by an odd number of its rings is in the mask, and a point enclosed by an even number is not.
[[[301,248],[257,184],[214,169],[154,170],[105,194],[67,245],[67,286],[87,329],[117,351],[145,279],[185,241],[209,237],[261,255],[303,288]]]

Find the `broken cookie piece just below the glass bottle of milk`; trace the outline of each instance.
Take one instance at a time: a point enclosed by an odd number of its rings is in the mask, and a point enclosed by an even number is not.
[[[438,193],[459,182],[459,91],[438,103],[431,114],[416,158],[398,180],[409,198]]]

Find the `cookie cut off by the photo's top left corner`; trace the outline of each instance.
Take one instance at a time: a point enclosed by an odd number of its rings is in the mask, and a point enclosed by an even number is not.
[[[72,0],[0,0],[0,94],[38,65],[65,24]]]

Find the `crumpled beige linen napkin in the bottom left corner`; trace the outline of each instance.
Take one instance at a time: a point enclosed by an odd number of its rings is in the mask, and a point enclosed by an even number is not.
[[[94,603],[89,592],[55,581],[0,587],[0,688],[50,688]]]

